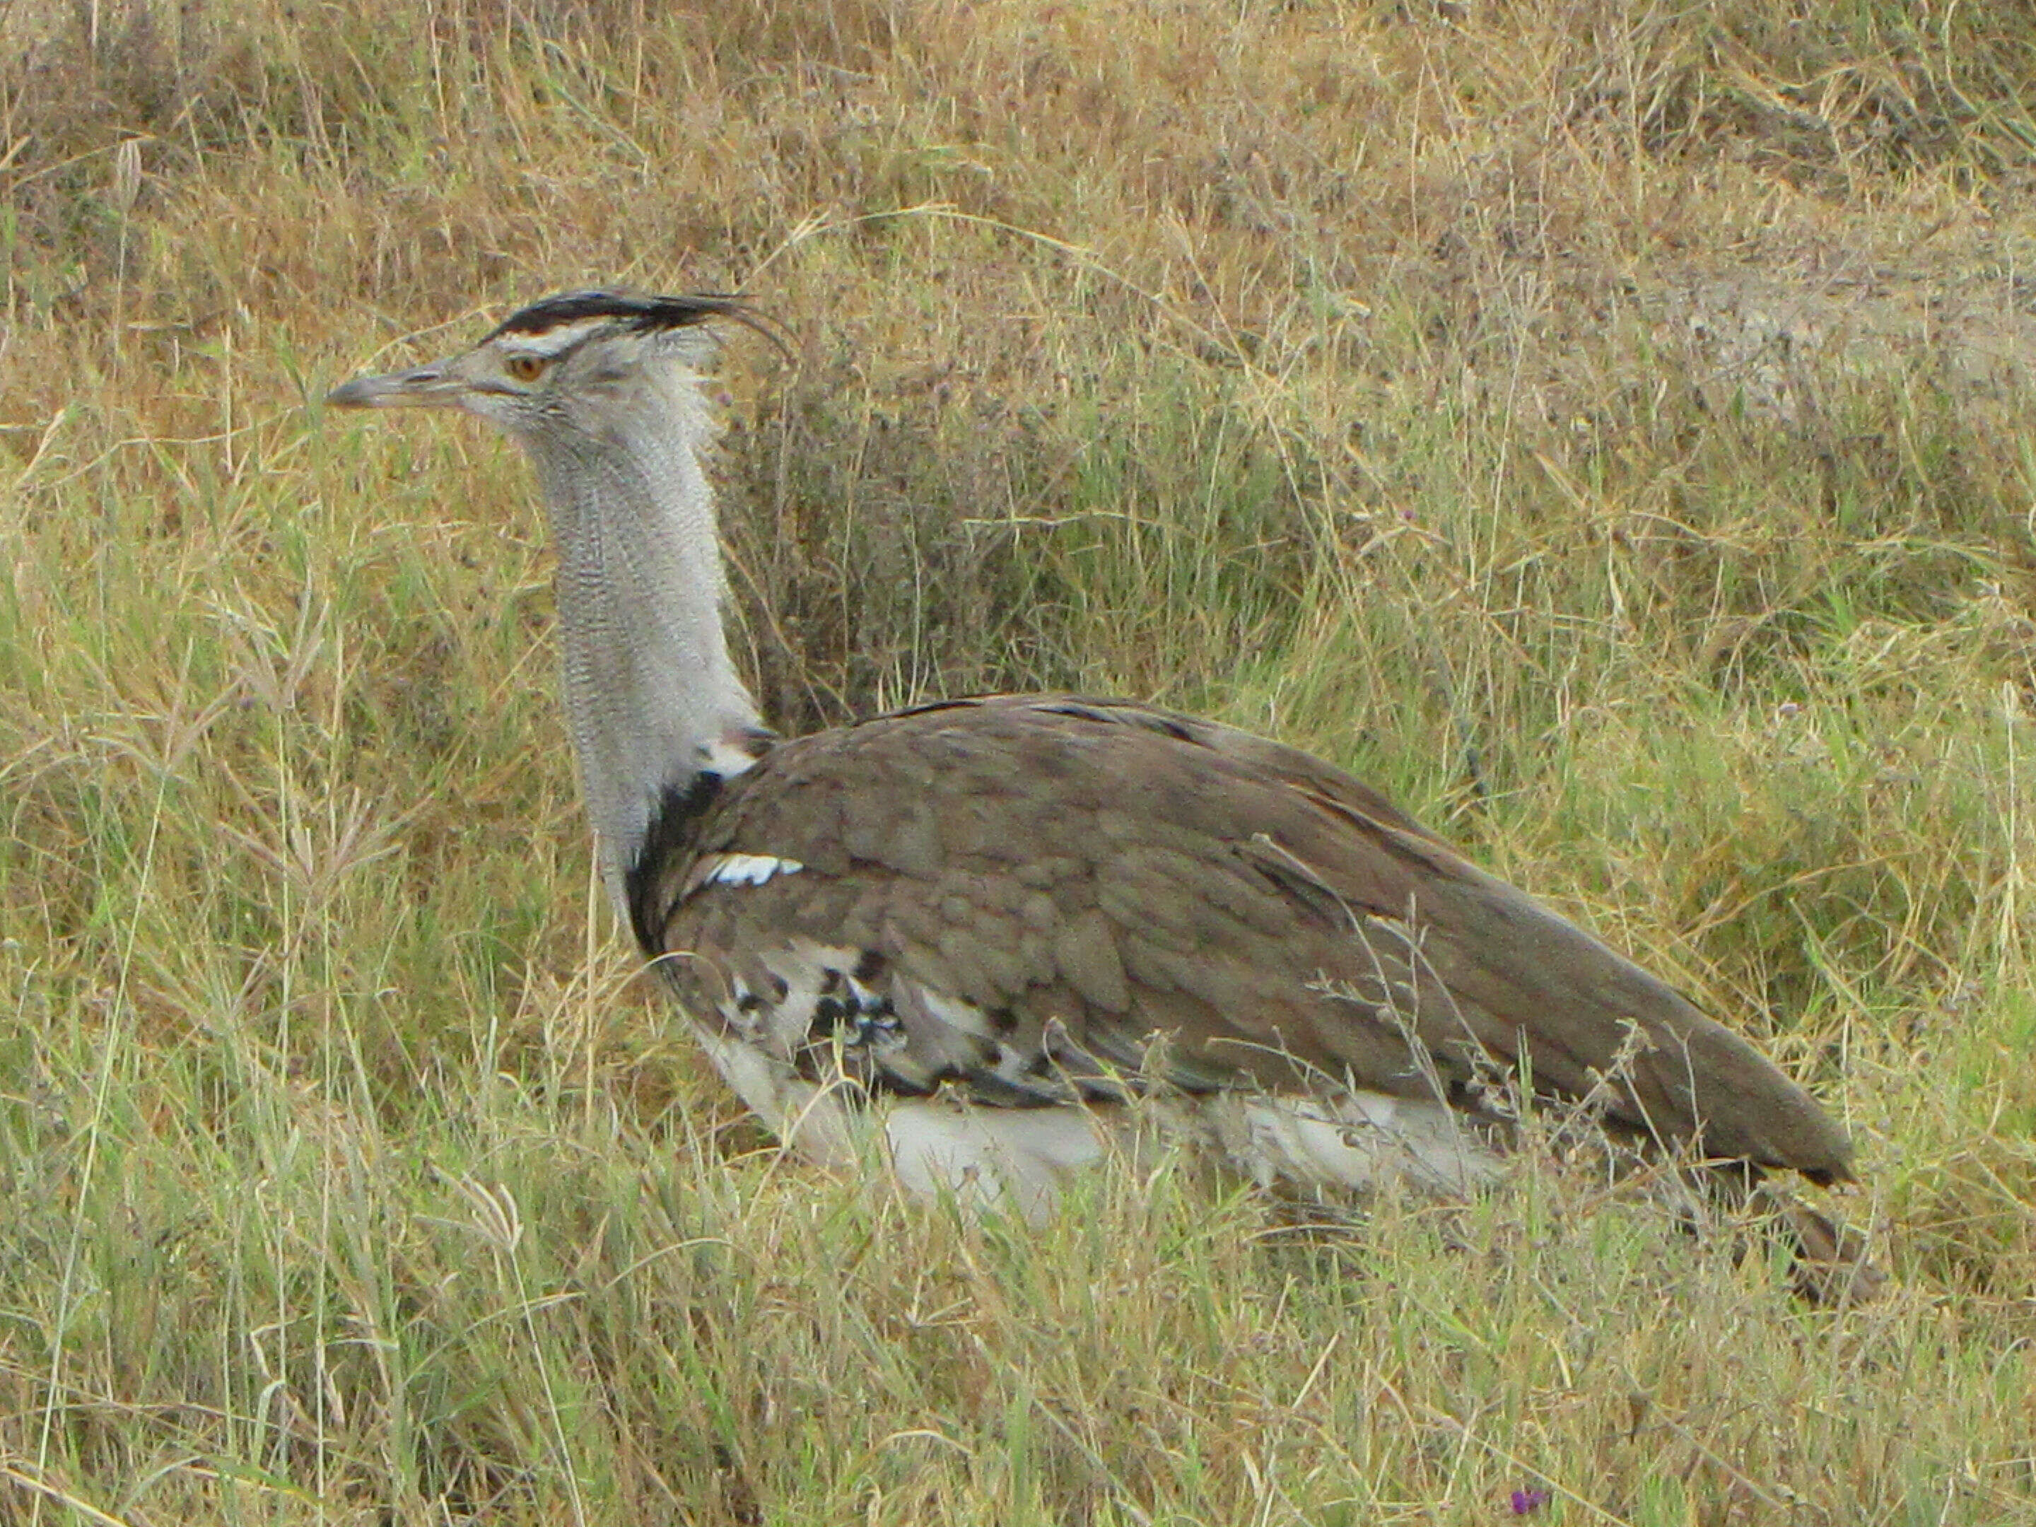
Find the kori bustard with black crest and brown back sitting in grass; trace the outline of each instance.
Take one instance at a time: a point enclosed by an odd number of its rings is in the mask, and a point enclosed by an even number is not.
[[[1753,1044],[1307,753],[1065,694],[776,737],[723,635],[715,320],[755,324],[556,295],[330,401],[458,407],[529,456],[609,894],[780,1138],[1036,1218],[1146,1097],[1260,1179],[1458,1191],[1525,1083],[1741,1189],[1851,1177]]]

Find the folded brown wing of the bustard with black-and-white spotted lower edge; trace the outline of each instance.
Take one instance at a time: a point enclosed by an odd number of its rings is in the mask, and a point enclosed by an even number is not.
[[[1672,987],[1358,780],[1213,723],[1055,696],[882,717],[731,780],[698,851],[798,869],[668,871],[682,996],[772,1000],[770,951],[839,951],[859,969],[829,971],[827,1016],[857,1014],[894,1083],[1042,1101],[1158,1065],[1474,1106],[1525,1055],[1553,1093],[1617,1073],[1610,1112],[1663,1140],[1849,1175],[1816,1101]]]

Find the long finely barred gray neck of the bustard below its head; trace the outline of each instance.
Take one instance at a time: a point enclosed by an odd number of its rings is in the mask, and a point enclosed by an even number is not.
[[[623,880],[666,790],[739,770],[741,743],[761,729],[721,631],[696,389],[682,379],[639,401],[633,428],[523,440],[558,546],[566,721],[603,880],[625,918]]]

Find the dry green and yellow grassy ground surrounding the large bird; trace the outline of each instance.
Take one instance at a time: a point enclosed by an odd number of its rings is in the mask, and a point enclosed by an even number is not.
[[[2026,8],[0,33],[0,1521],[2036,1521]],[[521,464],[318,403],[586,281],[788,326],[786,725],[1358,766],[1810,1079],[1898,1291],[1541,1169],[1030,1236],[780,1161],[595,914]]]

